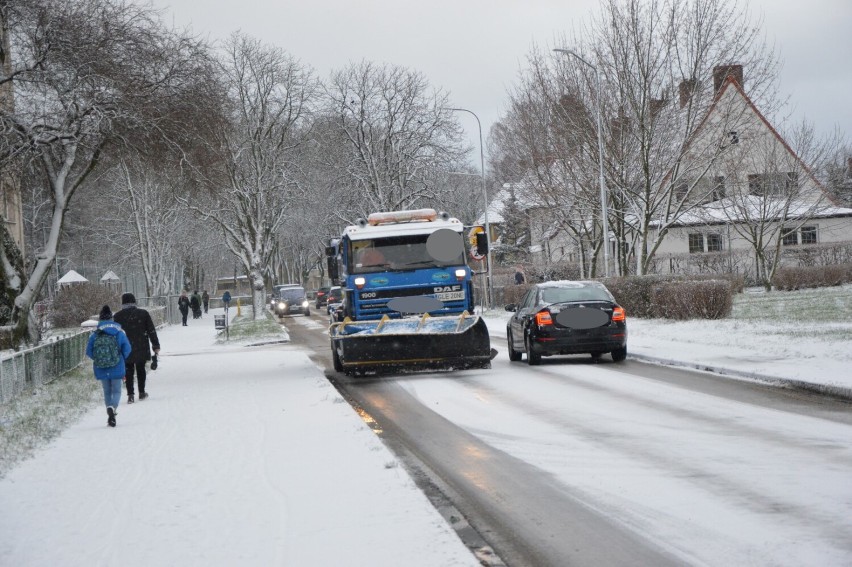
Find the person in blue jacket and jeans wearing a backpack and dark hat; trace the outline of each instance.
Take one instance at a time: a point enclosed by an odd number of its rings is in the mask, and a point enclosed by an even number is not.
[[[121,325],[112,320],[109,305],[101,308],[98,328],[86,343],[86,356],[92,359],[95,378],[104,389],[107,407],[107,425],[115,427],[115,415],[121,401],[121,383],[124,381],[124,361],[130,356],[130,341]]]

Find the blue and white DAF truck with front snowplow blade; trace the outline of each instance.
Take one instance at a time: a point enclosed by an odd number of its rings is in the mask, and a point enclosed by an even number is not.
[[[446,213],[419,209],[373,213],[331,241],[328,272],[343,288],[329,309],[335,370],[491,367],[464,230]],[[482,257],[486,247],[480,238],[471,252]]]

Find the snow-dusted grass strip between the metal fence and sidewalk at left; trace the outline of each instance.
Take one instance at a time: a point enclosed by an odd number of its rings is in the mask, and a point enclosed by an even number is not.
[[[0,478],[98,403],[103,390],[84,364],[0,406]]]

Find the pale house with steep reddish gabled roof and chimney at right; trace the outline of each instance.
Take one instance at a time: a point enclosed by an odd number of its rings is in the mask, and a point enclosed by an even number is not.
[[[746,268],[754,267],[758,248],[770,259],[780,253],[782,262],[817,245],[843,243],[850,254],[852,209],[833,200],[755,106],[743,90],[742,67],[724,69],[730,74],[690,141],[705,147],[708,140],[725,139],[724,151],[701,178],[676,185],[676,197],[699,206],[666,227],[656,251],[658,270],[700,269],[712,258],[690,261],[688,256],[714,253],[721,264],[717,269],[726,263],[732,267],[735,255]]]

